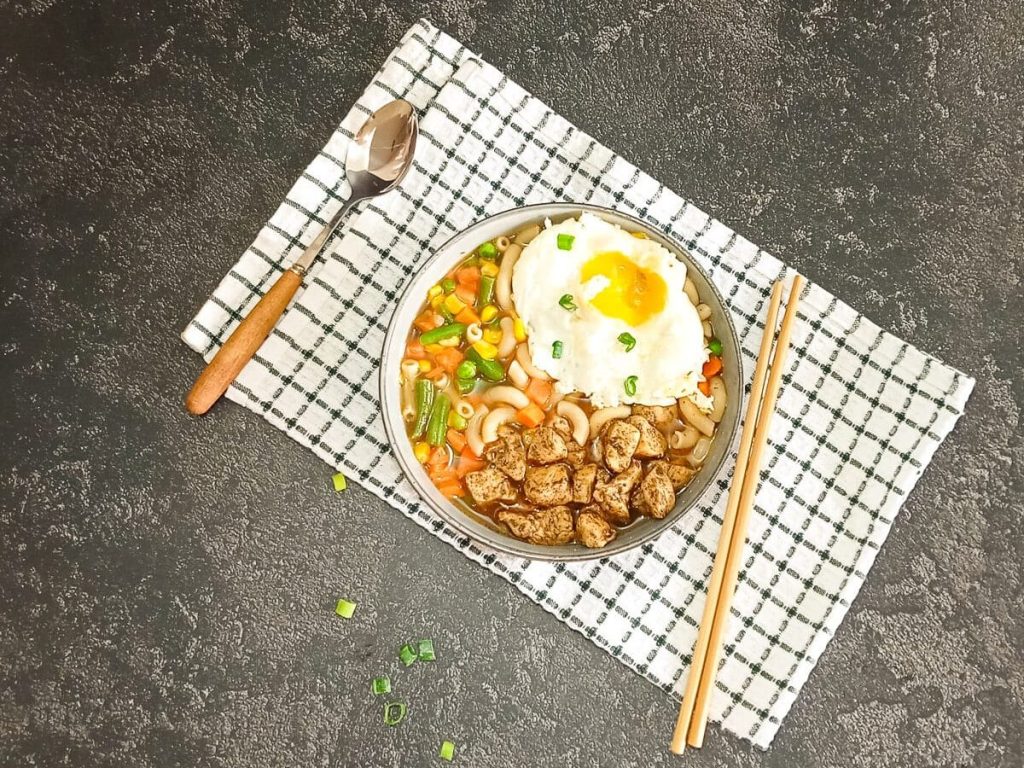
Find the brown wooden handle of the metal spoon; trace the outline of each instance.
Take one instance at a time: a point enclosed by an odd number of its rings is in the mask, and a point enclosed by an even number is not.
[[[202,416],[227,391],[227,387],[270,334],[301,284],[302,275],[291,269],[278,278],[278,282],[239,324],[224,346],[196,380],[185,397],[185,408],[189,413]]]

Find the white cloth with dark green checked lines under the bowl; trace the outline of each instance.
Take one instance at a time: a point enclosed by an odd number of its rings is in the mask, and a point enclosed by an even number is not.
[[[421,117],[412,171],[330,242],[228,396],[680,696],[731,466],[697,512],[634,552],[565,565],[481,551],[420,504],[402,479],[379,414],[381,346],[403,286],[434,248],[483,216],[527,203],[610,206],[682,243],[726,297],[748,373],[771,286],[792,274],[775,258],[420,22],[185,329],[184,341],[213,355],[345,199],[353,129],[398,97]],[[711,707],[713,720],[762,748],[974,385],[813,285],[794,344]],[[667,733],[672,720],[667,709]]]

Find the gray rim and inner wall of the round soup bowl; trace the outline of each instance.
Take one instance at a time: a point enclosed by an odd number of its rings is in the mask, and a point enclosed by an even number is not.
[[[723,425],[726,426],[726,430],[724,433],[719,432],[716,434],[715,440],[712,442],[712,456],[709,457],[712,460],[705,463],[694,478],[694,481],[677,495],[676,505],[668,515],[660,520],[639,520],[632,523],[627,528],[623,529],[623,532],[616,536],[615,539],[613,539],[606,547],[601,549],[589,549],[577,543],[559,546],[529,544],[527,542],[514,539],[507,534],[503,534],[493,525],[473,520],[469,514],[459,509],[451,502],[444,500],[443,497],[440,497],[439,493],[433,488],[433,484],[430,483],[429,479],[425,479],[426,473],[423,471],[422,466],[416,461],[416,458],[413,455],[412,444],[409,440],[408,434],[406,433],[406,426],[401,419],[401,403],[399,401],[400,393],[397,392],[397,388],[395,387],[394,390],[396,394],[395,396],[392,396],[391,387],[388,385],[390,376],[393,376],[395,382],[397,382],[399,374],[398,366],[400,366],[401,362],[400,351],[397,351],[396,353],[396,350],[393,349],[393,347],[398,341],[401,341],[402,348],[404,348],[404,339],[409,333],[408,328],[397,328],[398,315],[401,313],[401,309],[404,305],[415,298],[413,293],[414,290],[419,291],[422,289],[422,295],[426,295],[426,288],[429,288],[429,286],[424,288],[419,284],[423,279],[423,275],[428,272],[442,257],[447,255],[452,259],[452,263],[449,265],[449,268],[457,263],[458,259],[465,258],[466,251],[454,250],[455,244],[463,240],[472,242],[470,236],[472,236],[474,231],[482,229],[501,218],[512,218],[525,213],[532,213],[534,216],[530,218],[530,221],[536,220],[543,222],[544,219],[550,218],[561,220],[573,214],[579,215],[583,212],[590,212],[600,217],[611,218],[611,223],[624,226],[624,228],[635,227],[635,231],[643,231],[649,238],[672,251],[677,258],[686,264],[686,268],[688,270],[693,270],[701,276],[705,286],[711,290],[711,296],[714,297],[714,301],[707,301],[708,297],[705,296],[703,292],[701,292],[701,298],[706,300],[706,303],[711,304],[713,317],[715,315],[721,315],[724,316],[726,321],[725,327],[727,329],[727,337],[723,338],[722,330],[719,329],[717,325],[716,336],[725,342],[723,344],[723,355],[726,350],[731,352],[727,360],[727,365],[731,364],[731,369],[727,370],[735,372],[734,376],[730,377],[733,382],[733,386],[729,389],[729,403],[726,407],[726,414],[723,417],[722,422],[719,424],[720,430]],[[626,222],[628,222],[628,225]],[[526,223],[527,222],[520,223],[518,226],[521,227]],[[450,251],[452,251],[452,253],[449,253]],[[393,306],[394,310],[390,321],[388,322],[388,329],[384,336],[384,344],[381,351],[381,366],[379,371],[381,418],[384,421],[384,429],[387,433],[391,454],[401,467],[402,475],[416,489],[420,499],[425,502],[427,506],[430,507],[430,509],[432,509],[446,524],[451,525],[460,535],[470,540],[470,542],[475,544],[481,551],[485,552],[489,550],[530,560],[544,560],[549,562],[598,560],[621,555],[624,552],[641,547],[656,539],[667,529],[680,522],[684,517],[696,509],[701,499],[714,490],[716,485],[715,480],[719,474],[722,473],[722,470],[726,466],[727,460],[732,453],[732,442],[735,438],[736,431],[739,428],[740,413],[745,398],[745,378],[743,377],[742,371],[743,364],[742,352],[739,346],[739,337],[736,333],[732,313],[729,310],[728,305],[725,303],[725,299],[722,296],[721,291],[719,291],[718,286],[715,285],[708,272],[693,259],[685,247],[666,234],[655,225],[616,209],[589,203],[536,203],[532,205],[509,208],[474,221],[472,224],[456,232],[444,241],[444,243],[434,249],[434,252],[430,255],[430,257],[424,261],[412,275],[410,275],[408,285],[402,290],[401,296],[398,297],[397,302]],[[393,366],[390,368],[387,366],[389,359],[393,360]],[[726,422],[728,423],[726,424]],[[421,479],[418,476],[418,472],[423,474],[424,479]],[[428,485],[429,488],[427,487]]]

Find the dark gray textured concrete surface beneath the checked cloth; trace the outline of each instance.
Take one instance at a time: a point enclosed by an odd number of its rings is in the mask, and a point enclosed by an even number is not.
[[[1018,0],[148,5],[0,2],[0,765],[1022,764]],[[673,758],[665,694],[252,414],[182,410],[179,331],[420,15],[978,378],[767,753]]]

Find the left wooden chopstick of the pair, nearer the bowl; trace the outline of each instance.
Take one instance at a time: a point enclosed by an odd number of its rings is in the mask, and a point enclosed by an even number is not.
[[[771,357],[772,345],[775,340],[775,323],[778,319],[778,307],[782,301],[782,282],[775,284],[765,315],[765,333],[761,339],[758,351],[758,361],[754,370],[754,381],[751,384],[751,395],[746,402],[746,415],[743,419],[743,431],[739,437],[739,450],[736,455],[736,468],[733,471],[732,486],[729,488],[729,499],[726,502],[725,516],[722,519],[722,532],[719,536],[718,552],[715,554],[715,564],[711,571],[711,582],[708,584],[708,597],[705,600],[703,616],[700,618],[700,629],[693,646],[693,657],[690,662],[690,676],[686,681],[686,692],[679,707],[679,717],[676,719],[676,729],[672,734],[670,749],[677,755],[686,750],[686,734],[693,716],[696,703],[697,686],[700,673],[703,671],[708,653],[708,643],[711,639],[712,624],[718,606],[719,594],[722,589],[722,579],[725,575],[725,565],[729,553],[729,543],[732,540],[736,521],[736,510],[739,507],[740,488],[746,473],[751,445],[754,442],[755,429],[758,421],[758,411],[764,393],[765,382],[768,379],[768,360]]]

